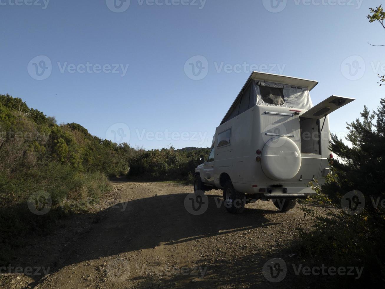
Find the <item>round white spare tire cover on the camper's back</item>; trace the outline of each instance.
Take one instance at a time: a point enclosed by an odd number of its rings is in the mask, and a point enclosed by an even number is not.
[[[301,168],[301,151],[290,138],[277,136],[264,145],[261,165],[268,178],[290,180]]]

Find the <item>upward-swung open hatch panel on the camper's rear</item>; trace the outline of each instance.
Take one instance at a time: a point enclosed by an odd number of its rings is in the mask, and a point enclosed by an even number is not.
[[[301,115],[301,118],[321,119],[344,105],[354,101],[355,98],[332,95]]]

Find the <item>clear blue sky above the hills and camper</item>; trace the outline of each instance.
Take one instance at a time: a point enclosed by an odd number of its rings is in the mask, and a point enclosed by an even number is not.
[[[17,1],[0,0],[0,93],[131,146],[210,145],[255,68],[319,81],[314,104],[357,98],[330,115],[341,135],[384,97],[381,1]]]

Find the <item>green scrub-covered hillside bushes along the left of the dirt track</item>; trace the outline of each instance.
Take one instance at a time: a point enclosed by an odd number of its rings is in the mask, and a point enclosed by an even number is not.
[[[0,266],[32,232],[48,233],[60,218],[97,203],[110,190],[107,177],[191,180],[201,154],[208,150],[134,150],[80,124],[57,125],[22,99],[0,95]],[[28,198],[39,191],[52,199],[45,215],[28,209]]]

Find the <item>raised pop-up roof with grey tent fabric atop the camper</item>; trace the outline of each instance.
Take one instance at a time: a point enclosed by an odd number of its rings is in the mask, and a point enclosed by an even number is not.
[[[309,91],[317,84],[312,80],[253,71],[221,124],[256,105],[311,109]]]

